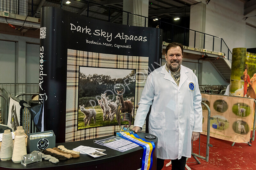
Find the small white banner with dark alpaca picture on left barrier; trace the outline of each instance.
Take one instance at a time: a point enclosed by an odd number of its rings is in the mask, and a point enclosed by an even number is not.
[[[10,97],[7,126],[12,127],[14,131],[20,126],[20,108],[20,103]]]

